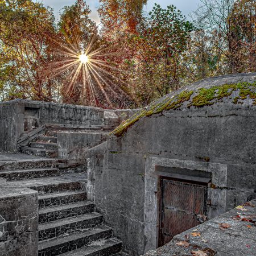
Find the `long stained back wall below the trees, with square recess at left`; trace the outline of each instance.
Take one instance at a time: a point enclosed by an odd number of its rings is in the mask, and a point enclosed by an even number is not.
[[[133,110],[104,110],[89,106],[14,100],[0,102],[0,152],[16,152],[17,140],[45,123],[116,127]]]

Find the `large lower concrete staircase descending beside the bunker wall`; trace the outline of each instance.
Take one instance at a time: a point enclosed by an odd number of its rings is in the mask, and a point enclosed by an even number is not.
[[[41,158],[0,168],[10,185],[39,193],[39,256],[121,255],[122,243],[86,201],[86,172],[64,174],[55,166]]]

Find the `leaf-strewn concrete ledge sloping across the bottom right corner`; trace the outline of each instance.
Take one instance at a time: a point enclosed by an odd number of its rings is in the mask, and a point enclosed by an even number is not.
[[[167,245],[144,256],[191,255],[199,250],[205,256],[256,255],[255,205],[253,200],[230,210],[175,236]],[[197,236],[193,236],[195,233]]]

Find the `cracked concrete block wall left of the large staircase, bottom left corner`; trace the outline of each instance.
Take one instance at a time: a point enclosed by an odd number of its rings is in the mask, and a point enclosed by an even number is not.
[[[38,255],[38,192],[0,187],[0,255]]]

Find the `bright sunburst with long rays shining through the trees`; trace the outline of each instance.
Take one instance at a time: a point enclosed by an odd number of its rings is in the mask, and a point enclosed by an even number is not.
[[[57,45],[54,55],[59,60],[52,61],[44,71],[48,77],[65,76],[63,88],[66,98],[71,98],[76,86],[82,85],[82,104],[101,106],[98,100],[100,98],[99,94],[105,98],[104,102],[107,108],[114,108],[113,98],[120,102],[125,98],[133,101],[127,93],[113,82],[118,80],[119,83],[125,84],[109,72],[117,68],[112,67],[105,60],[107,56],[119,55],[120,53],[107,53],[108,48],[106,47],[97,48],[96,36],[92,36],[86,45],[81,42],[77,34],[73,36],[72,40],[67,39],[67,43],[52,40]]]

